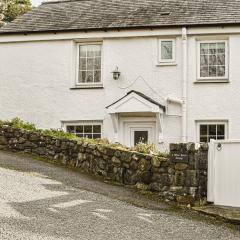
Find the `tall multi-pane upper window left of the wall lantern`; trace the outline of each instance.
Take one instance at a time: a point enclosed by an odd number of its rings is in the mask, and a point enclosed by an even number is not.
[[[101,45],[79,44],[78,84],[101,82]]]

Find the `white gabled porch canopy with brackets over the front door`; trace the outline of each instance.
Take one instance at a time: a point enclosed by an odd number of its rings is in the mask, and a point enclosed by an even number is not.
[[[132,90],[125,96],[106,107],[111,115],[115,132],[115,141],[118,142],[119,113],[153,113],[156,116],[156,125],[159,131],[159,142],[163,136],[163,113],[166,107],[145,94]]]

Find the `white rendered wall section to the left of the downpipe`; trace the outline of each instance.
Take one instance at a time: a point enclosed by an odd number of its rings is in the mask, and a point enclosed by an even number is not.
[[[112,122],[105,107],[128,91],[140,91],[162,103],[169,94],[181,97],[179,40],[177,45],[178,65],[160,67],[156,66],[155,37],[106,39],[103,41],[104,88],[70,90],[75,80],[77,54],[73,41],[2,43],[0,118],[20,117],[41,128],[59,128],[63,120],[104,120],[104,136],[112,139]],[[121,71],[119,81],[112,79],[111,72],[116,66]],[[173,133],[169,128],[171,122],[176,122],[175,117],[165,117],[165,122],[166,141],[179,139],[181,130],[178,128]],[[180,119],[177,122],[179,125]]]

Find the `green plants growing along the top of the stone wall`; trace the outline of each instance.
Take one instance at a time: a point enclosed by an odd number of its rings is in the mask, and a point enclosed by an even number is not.
[[[140,152],[143,154],[151,154],[151,155],[157,155],[157,156],[161,156],[161,157],[168,156],[167,153],[160,152],[158,150],[158,148],[156,147],[156,145],[153,143],[151,143],[151,144],[150,143],[149,144],[138,143],[136,146],[134,146],[132,148],[128,148],[126,146],[123,146],[120,143],[110,143],[108,141],[108,139],[106,139],[106,138],[103,138],[103,139],[80,138],[80,137],[77,137],[75,134],[65,132],[61,129],[38,129],[35,126],[35,124],[30,123],[30,122],[24,122],[20,118],[13,118],[12,120],[6,120],[6,121],[0,120],[0,127],[4,126],[4,125],[10,126],[12,128],[27,130],[27,131],[36,131],[43,135],[51,136],[51,137],[55,137],[55,138],[61,138],[61,139],[65,138],[65,139],[79,141],[79,142],[84,141],[84,142],[90,143],[90,144],[101,144],[106,147],[111,147],[111,148],[115,148],[115,149],[119,149],[119,150],[136,151],[136,152]]]

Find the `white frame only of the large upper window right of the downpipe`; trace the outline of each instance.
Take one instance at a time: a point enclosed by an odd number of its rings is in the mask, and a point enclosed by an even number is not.
[[[223,77],[201,77],[200,69],[201,69],[201,62],[200,62],[200,44],[201,43],[225,43],[225,76]],[[228,81],[228,74],[229,74],[229,41],[228,40],[202,40],[197,41],[197,80],[198,81],[221,81],[225,80]]]

